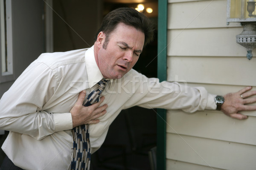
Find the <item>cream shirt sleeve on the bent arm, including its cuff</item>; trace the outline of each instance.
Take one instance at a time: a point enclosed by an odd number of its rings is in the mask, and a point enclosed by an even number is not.
[[[37,140],[71,129],[71,113],[60,116],[41,110],[57,87],[52,69],[42,62],[32,62],[0,99],[0,129],[28,134]]]

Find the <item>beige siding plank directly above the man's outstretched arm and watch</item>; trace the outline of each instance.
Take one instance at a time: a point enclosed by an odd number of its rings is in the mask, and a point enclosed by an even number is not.
[[[168,57],[167,65],[168,81],[256,86],[256,59]]]

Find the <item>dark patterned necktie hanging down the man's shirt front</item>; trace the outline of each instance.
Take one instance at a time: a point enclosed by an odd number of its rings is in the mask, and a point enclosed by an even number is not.
[[[83,105],[90,106],[99,102],[99,96],[106,87],[109,79],[103,78],[98,82],[98,88],[84,99]],[[89,125],[80,125],[72,130],[73,152],[71,157],[71,170],[90,170],[91,147],[89,140]]]

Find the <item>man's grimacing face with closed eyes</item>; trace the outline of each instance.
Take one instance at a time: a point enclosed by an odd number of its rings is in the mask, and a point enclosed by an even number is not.
[[[95,42],[95,59],[105,78],[120,79],[133,68],[138,61],[144,45],[144,33],[132,26],[119,23],[109,35],[104,49],[106,36],[100,32]]]

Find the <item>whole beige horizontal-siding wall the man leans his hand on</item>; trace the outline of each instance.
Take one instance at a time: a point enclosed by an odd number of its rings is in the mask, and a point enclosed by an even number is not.
[[[243,28],[226,24],[227,0],[169,0],[169,81],[204,86],[224,95],[254,86],[250,61],[236,43]],[[167,170],[255,170],[256,112],[239,121],[219,111],[167,111]]]

